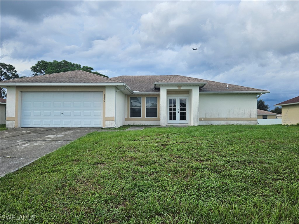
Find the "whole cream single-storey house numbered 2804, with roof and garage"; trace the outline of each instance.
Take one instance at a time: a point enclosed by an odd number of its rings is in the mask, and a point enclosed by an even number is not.
[[[257,124],[267,90],[186,76],[106,78],[82,70],[12,79],[6,126]]]

